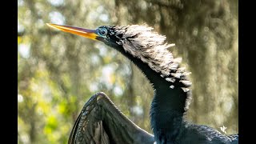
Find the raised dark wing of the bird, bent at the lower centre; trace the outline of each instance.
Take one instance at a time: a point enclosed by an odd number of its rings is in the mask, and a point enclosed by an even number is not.
[[[154,143],[154,135],[131,122],[106,96],[94,94],[76,120],[69,144]]]

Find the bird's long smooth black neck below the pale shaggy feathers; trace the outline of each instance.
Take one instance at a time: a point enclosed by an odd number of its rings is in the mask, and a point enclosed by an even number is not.
[[[134,62],[154,86],[150,122],[155,140],[158,143],[173,142],[182,125],[187,98],[187,94],[181,89],[181,83],[178,79],[175,82],[167,82],[159,73],[150,69],[146,63],[128,54],[122,46],[116,46],[115,49]],[[170,88],[170,86],[174,87]]]

